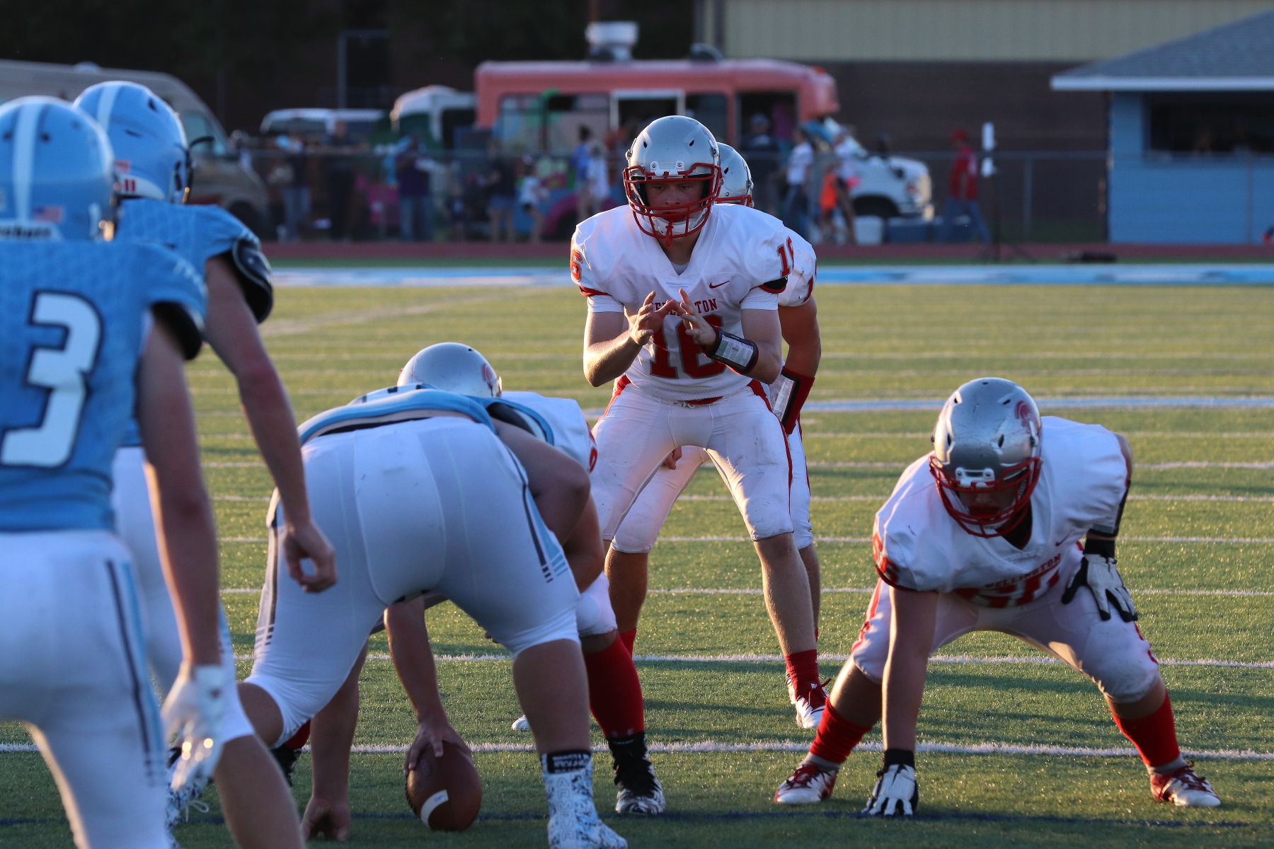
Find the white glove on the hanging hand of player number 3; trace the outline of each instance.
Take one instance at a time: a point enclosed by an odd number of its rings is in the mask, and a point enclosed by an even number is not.
[[[220,664],[181,664],[181,673],[163,704],[164,736],[177,734],[181,755],[173,765],[172,789],[190,782],[206,783],[222,756],[222,713],[225,709],[225,668]]]

